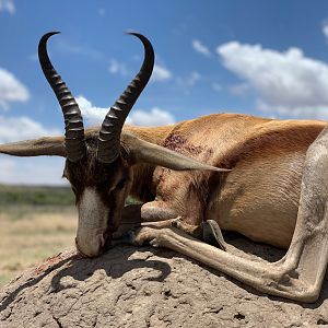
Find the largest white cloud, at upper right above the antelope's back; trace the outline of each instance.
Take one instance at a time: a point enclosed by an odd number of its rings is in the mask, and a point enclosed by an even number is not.
[[[298,48],[284,52],[260,45],[231,42],[216,48],[223,65],[258,93],[260,109],[292,117],[319,116],[328,110],[328,66]],[[245,84],[245,85],[244,85]],[[269,109],[270,108],[270,109]]]

